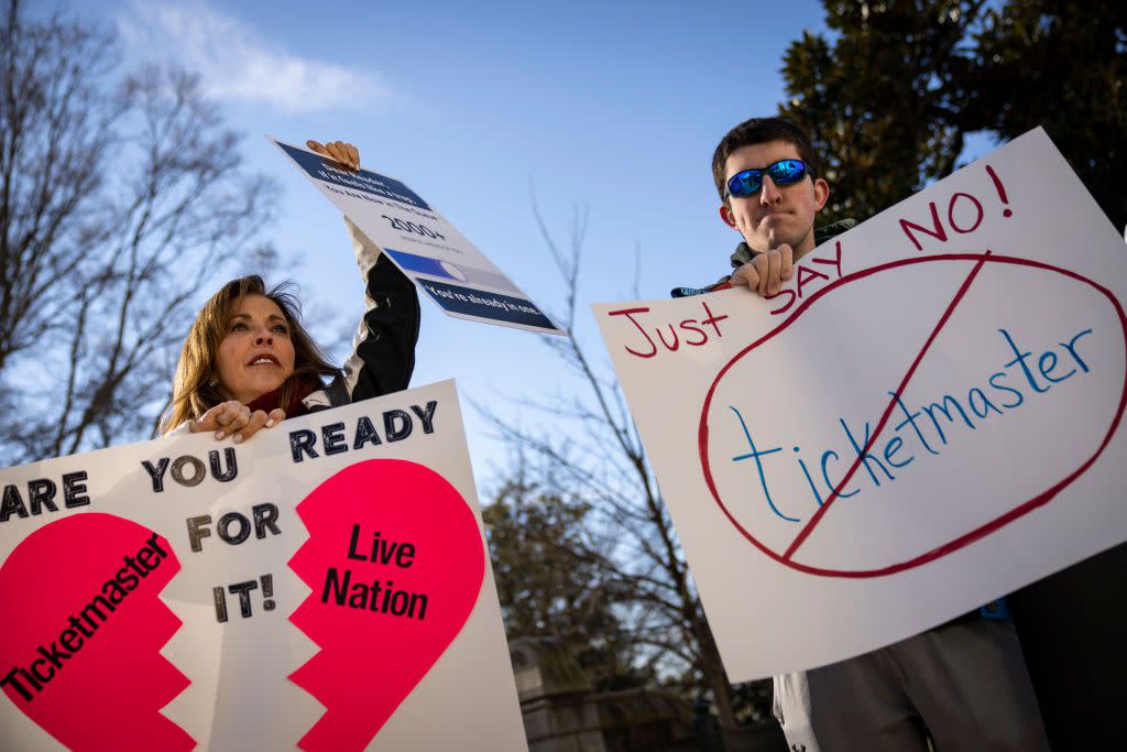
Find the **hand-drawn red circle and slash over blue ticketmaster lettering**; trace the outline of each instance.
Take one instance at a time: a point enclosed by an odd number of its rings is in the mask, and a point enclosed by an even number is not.
[[[950,540],[946,540],[943,542],[940,542],[939,545],[931,546],[930,548],[928,548],[928,550],[920,550],[907,558],[904,558],[898,561],[890,561],[885,566],[871,567],[871,568],[852,568],[852,569],[844,568],[841,566],[831,568],[826,566],[810,566],[808,564],[802,564],[796,560],[796,554],[799,550],[799,547],[802,546],[804,541],[807,540],[807,538],[814,531],[814,529],[825,519],[827,514],[834,514],[835,511],[838,510],[841,505],[841,497],[838,496],[838,494],[842,492],[843,488],[848,486],[850,478],[853,477],[854,472],[860,467],[861,465],[860,457],[857,458],[857,461],[854,461],[853,465],[849,468],[849,470],[844,474],[843,479],[837,484],[833,494],[831,494],[831,496],[825,499],[825,503],[820,505],[820,507],[813,515],[813,517],[810,517],[807,522],[805,522],[805,524],[798,531],[797,536],[795,536],[795,538],[789,542],[789,545],[784,547],[769,545],[762,534],[754,533],[752,530],[748,529],[749,525],[746,525],[743,522],[740,522],[740,520],[734,513],[730,505],[726,504],[725,499],[721,497],[721,493],[718,489],[717,480],[713,477],[713,468],[711,467],[711,461],[709,457],[709,418],[711,415],[711,410],[715,409],[712,404],[713,397],[717,393],[717,388],[725,380],[725,378],[730,373],[733,373],[733,368],[737,363],[739,363],[740,360],[747,357],[757,348],[765,345],[777,335],[779,335],[784,329],[787,329],[796,321],[798,321],[799,318],[805,312],[810,310],[810,307],[814,303],[816,303],[819,299],[825,298],[827,294],[832,293],[835,290],[840,290],[843,285],[851,285],[857,283],[858,281],[870,278],[873,275],[879,275],[881,273],[886,273],[896,268],[916,266],[920,264],[944,264],[944,263],[961,264],[970,273],[965,280],[962,286],[959,289],[959,292],[955,295],[955,299],[948,306],[943,317],[931,330],[931,336],[928,338],[925,343],[919,344],[921,350],[919,351],[919,354],[916,355],[914,362],[905,363],[904,368],[906,372],[903,374],[896,374],[895,375],[896,380],[889,382],[888,388],[893,388],[893,386],[897,383],[899,384],[898,388],[896,389],[896,393],[904,392],[904,390],[911,382],[912,377],[916,371],[916,368],[928,355],[932,342],[942,330],[948,319],[951,318],[951,316],[956,312],[956,309],[958,308],[958,304],[960,303],[962,297],[967,293],[968,290],[970,290],[976,275],[985,265],[991,265],[994,266],[995,268],[1004,268],[1004,269],[1018,269],[1018,268],[1035,269],[1040,273],[1059,275],[1059,277],[1054,277],[1054,278],[1063,277],[1074,283],[1080,283],[1082,286],[1086,289],[1089,293],[1092,293],[1095,300],[1106,302],[1111,307],[1111,309],[1115,312],[1115,320],[1120,327],[1120,331],[1117,331],[1116,334],[1120,334],[1124,337],[1125,344],[1127,344],[1127,316],[1125,316],[1122,307],[1119,304],[1119,301],[1116,300],[1115,295],[1107,287],[1068,269],[1063,269],[1056,266],[1051,266],[1048,264],[1026,258],[997,256],[991,254],[990,251],[986,251],[984,254],[943,254],[923,258],[909,258],[909,259],[891,262],[888,264],[882,264],[879,266],[864,269],[862,272],[846,275],[837,280],[833,284],[829,284],[818,290],[815,294],[807,298],[802,302],[802,304],[799,306],[786,321],[775,327],[772,331],[758,338],[756,342],[745,347],[727,365],[725,365],[720,370],[719,374],[717,375],[716,380],[712,382],[712,386],[708,391],[708,396],[706,397],[704,406],[701,412],[701,418],[700,418],[700,428],[699,428],[700,460],[701,460],[701,467],[704,472],[704,480],[709,487],[709,490],[712,494],[712,497],[716,499],[717,504],[720,506],[721,511],[731,522],[731,524],[749,542],[752,542],[763,554],[770,556],[780,564],[797,569],[799,572],[805,572],[807,574],[820,575],[827,577],[881,577],[897,572],[903,572],[905,569],[911,569],[913,567],[917,567],[929,561],[939,559],[943,556],[948,556],[949,554],[957,551],[976,540],[979,540],[982,538],[985,538],[986,536],[990,536],[991,533],[996,532],[997,530],[1022,517],[1023,515],[1030,513],[1031,511],[1040,506],[1044,506],[1045,504],[1050,503],[1054,498],[1056,498],[1056,496],[1062,490],[1064,490],[1071,484],[1073,484],[1076,480],[1076,478],[1083,475],[1095,462],[1095,460],[1103,452],[1104,448],[1108,445],[1108,443],[1111,441],[1111,437],[1118,430],[1119,423],[1122,418],[1125,406],[1127,406],[1127,381],[1124,382],[1121,389],[1117,393],[1118,397],[1117,404],[1113,407],[1109,405],[1110,417],[1109,417],[1109,426],[1107,428],[1107,433],[1102,435],[1101,440],[1095,446],[1094,452],[1092,452],[1090,457],[1083,458],[1079,462],[1077,467],[1072,469],[1064,477],[1059,478],[1050,487],[1041,490],[1040,493],[1035,494],[1032,497],[1015,499],[1009,508],[1006,508],[1004,512],[1002,512],[994,519],[987,520],[982,524],[977,524],[970,530],[961,531],[959,534],[951,538]],[[836,374],[834,375],[836,377]],[[871,419],[875,423],[875,426],[872,430],[871,441],[868,444],[869,446],[876,445],[876,442],[878,441],[881,431],[885,430],[887,424],[889,423],[894,405],[895,401],[889,401],[887,408],[884,410],[884,414],[873,415],[871,417]],[[798,451],[797,446],[795,448],[795,451],[796,452]]]

